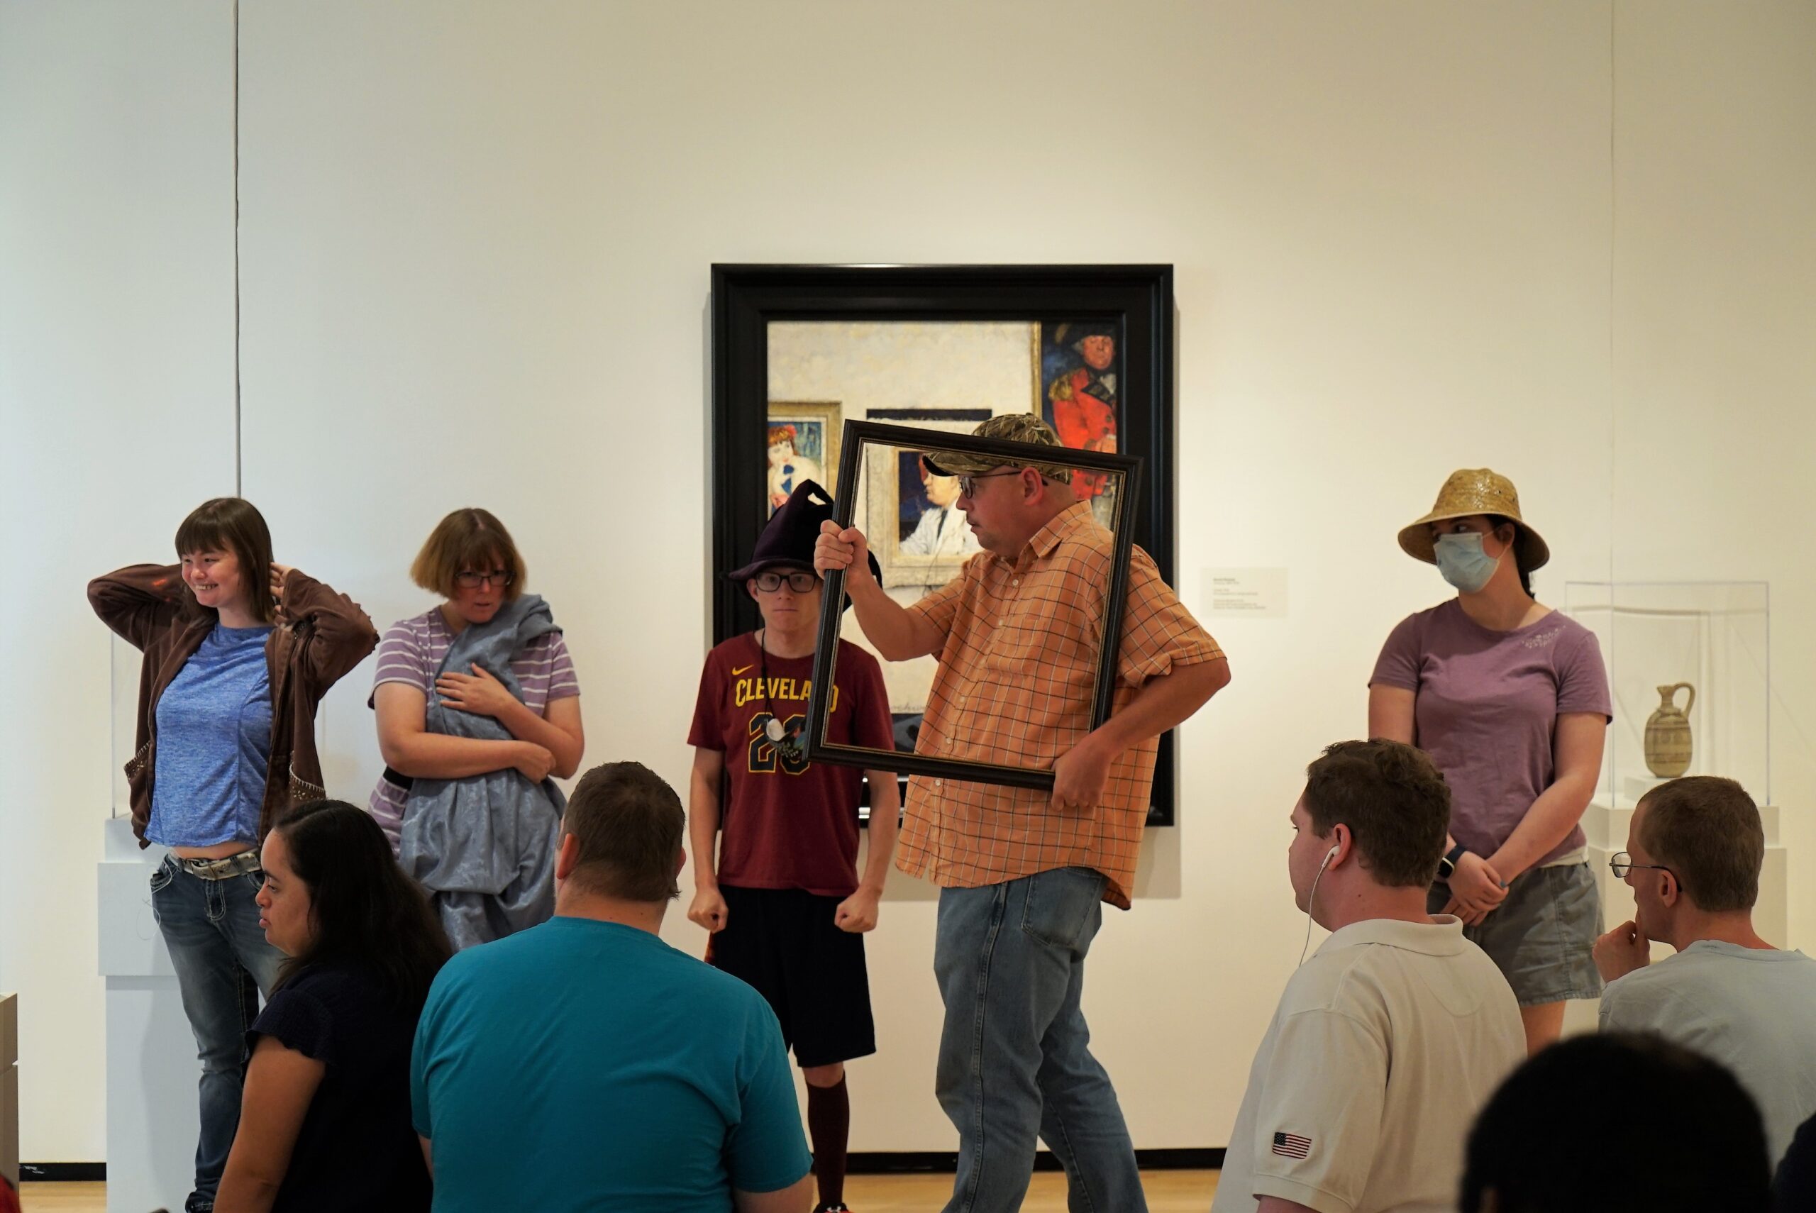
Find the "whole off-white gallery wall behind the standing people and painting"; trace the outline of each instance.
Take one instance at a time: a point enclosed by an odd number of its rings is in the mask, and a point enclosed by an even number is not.
[[[1086,1010],[1144,1148],[1222,1146],[1298,955],[1306,761],[1444,597],[1393,532],[1511,474],[1565,579],[1772,583],[1772,792],[1816,944],[1816,5],[238,7],[240,476],[383,626],[487,505],[567,626],[588,764],[685,786],[714,261],[1170,261],[1179,588],[1217,621],[1179,828]],[[234,5],[0,0],[0,990],[24,1157],[102,1159],[107,639],[84,581],[234,488]],[[327,777],[380,770],[370,666]],[[120,688],[118,694],[131,694]],[[670,942],[699,952],[677,912]],[[870,939],[855,1149],[946,1149],[933,902]],[[173,1093],[173,1099],[187,1099]]]

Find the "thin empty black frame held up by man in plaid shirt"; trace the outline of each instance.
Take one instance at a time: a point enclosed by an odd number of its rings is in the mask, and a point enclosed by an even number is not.
[[[1122,608],[1130,590],[1130,552],[1135,547],[1135,528],[1130,525],[1130,507],[1140,492],[1140,459],[1124,454],[1102,454],[1097,450],[1070,450],[1066,447],[1041,447],[1037,443],[1012,443],[1001,438],[972,438],[966,434],[943,434],[941,430],[915,429],[912,425],[883,425],[877,421],[846,421],[844,438],[839,447],[839,483],[846,492],[834,503],[832,518],[843,530],[852,525],[863,467],[863,452],[868,445],[888,445],[897,449],[921,450],[926,454],[975,454],[1002,463],[1051,463],[1057,467],[1082,468],[1090,472],[1115,472],[1119,483],[1119,518],[1111,532],[1110,585],[1104,590],[1104,646],[1097,656],[1097,679],[1091,695],[1091,728],[1110,719],[1110,705],[1117,688],[1117,661],[1120,657]],[[1070,492],[1070,488],[1066,488]],[[946,759],[926,754],[906,754],[892,750],[883,754],[864,746],[837,745],[826,741],[826,728],[832,723],[832,686],[834,659],[839,648],[839,630],[844,625],[844,612],[826,610],[824,603],[844,601],[844,574],[828,572],[821,587],[819,641],[814,646],[814,690],[806,701],[806,728],[801,732],[801,748],[810,763],[834,763],[839,766],[859,766],[870,770],[893,770],[897,775],[933,775],[939,779],[957,779],[964,783],[993,783],[1010,788],[1053,788],[1051,766],[1004,766],[997,763],[975,763],[970,759]]]

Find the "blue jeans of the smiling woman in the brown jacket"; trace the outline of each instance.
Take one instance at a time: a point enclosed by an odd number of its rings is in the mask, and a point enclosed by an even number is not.
[[[258,1015],[258,997],[271,995],[283,962],[283,953],[258,930],[252,897],[263,879],[247,872],[203,881],[174,855],[165,855],[163,866],[151,873],[151,912],[171,952],[202,1059],[202,1139],[191,1208],[209,1208],[220,1188],[240,1128],[245,1031]]]

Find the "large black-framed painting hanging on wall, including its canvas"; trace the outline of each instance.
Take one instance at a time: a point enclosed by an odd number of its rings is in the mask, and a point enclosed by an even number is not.
[[[1073,490],[1122,518],[1175,585],[1173,271],[1170,265],[716,265],[712,269],[714,568],[743,565],[777,494],[830,492],[844,421],[970,434],[1037,412],[1077,450],[1140,459],[1139,499],[1081,472]],[[955,492],[912,452],[872,449],[855,510],[903,603],[957,576],[975,539]],[[757,626],[741,587],[712,585],[714,643]],[[846,612],[844,639],[868,648]],[[883,663],[895,741],[912,750],[933,657]],[[1160,739],[1150,824],[1173,824],[1175,750]]]

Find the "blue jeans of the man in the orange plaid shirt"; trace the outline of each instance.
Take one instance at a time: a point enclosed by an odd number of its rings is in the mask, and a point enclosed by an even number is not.
[[[935,1086],[959,1129],[946,1213],[1019,1209],[1035,1137],[1066,1168],[1073,1213],[1148,1208],[1122,1108],[1079,1010],[1102,895],[1091,868],[939,893],[933,973],[946,1028]]]

